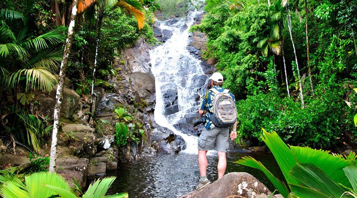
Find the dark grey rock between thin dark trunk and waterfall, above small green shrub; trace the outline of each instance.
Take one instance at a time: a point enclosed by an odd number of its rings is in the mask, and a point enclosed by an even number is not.
[[[98,104],[96,115],[113,113],[115,108],[119,106],[119,104],[124,103],[124,100],[125,99],[122,96],[119,96],[119,94],[115,94],[115,93],[104,94],[103,98]]]

